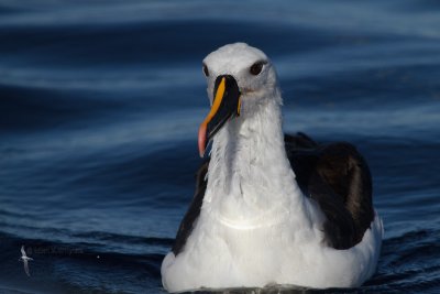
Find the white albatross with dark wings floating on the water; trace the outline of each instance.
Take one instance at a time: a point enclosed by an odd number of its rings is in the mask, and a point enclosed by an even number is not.
[[[346,142],[284,133],[276,72],[262,51],[224,45],[202,69],[205,160],[162,263],[164,288],[360,286],[375,272],[383,236],[363,156]]]

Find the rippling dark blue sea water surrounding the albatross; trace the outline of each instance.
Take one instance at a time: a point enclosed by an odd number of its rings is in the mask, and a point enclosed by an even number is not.
[[[287,131],[370,163],[385,240],[361,291],[440,291],[440,3],[237,2],[0,1],[0,292],[164,292],[201,59],[237,41],[272,57]]]

